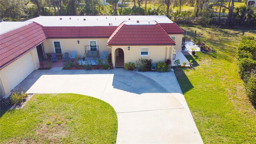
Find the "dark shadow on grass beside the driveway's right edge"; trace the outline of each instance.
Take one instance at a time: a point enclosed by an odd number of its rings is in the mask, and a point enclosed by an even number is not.
[[[184,70],[184,71],[186,71],[186,70]],[[181,70],[181,69],[177,69],[177,70],[174,71],[174,73],[176,75],[176,78],[177,78],[177,80],[180,84],[180,88],[181,88],[183,94],[185,94],[186,92],[188,92],[189,90],[194,88],[194,86],[188,80],[188,77],[186,76],[184,71]]]

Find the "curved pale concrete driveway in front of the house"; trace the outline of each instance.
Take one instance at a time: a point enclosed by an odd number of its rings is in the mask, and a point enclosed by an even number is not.
[[[76,93],[108,102],[117,143],[203,143],[174,72],[36,70],[17,87],[27,93]]]

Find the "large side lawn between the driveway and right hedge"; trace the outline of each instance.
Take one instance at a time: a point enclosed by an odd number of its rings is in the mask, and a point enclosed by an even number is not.
[[[238,76],[236,46],[256,31],[219,29],[209,40],[209,28],[182,28],[191,37],[194,30],[203,32],[201,39],[216,51],[186,56],[195,70],[175,70],[204,143],[255,143],[256,110]]]

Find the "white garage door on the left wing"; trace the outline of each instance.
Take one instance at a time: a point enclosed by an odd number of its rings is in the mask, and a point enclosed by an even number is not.
[[[31,72],[34,71],[34,65],[31,53],[28,52],[24,56],[18,58],[8,66],[7,78],[10,90],[15,88],[22,80],[24,80]]]

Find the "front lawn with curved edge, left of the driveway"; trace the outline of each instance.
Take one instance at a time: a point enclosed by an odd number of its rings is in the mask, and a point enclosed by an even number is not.
[[[49,124],[49,125],[47,125]],[[0,143],[116,143],[110,104],[79,94],[36,94],[22,109],[1,110]]]

